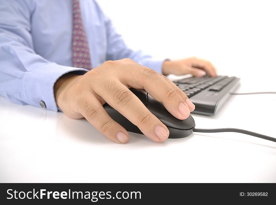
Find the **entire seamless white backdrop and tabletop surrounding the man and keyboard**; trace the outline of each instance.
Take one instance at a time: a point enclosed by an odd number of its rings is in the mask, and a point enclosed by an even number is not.
[[[198,56],[241,77],[238,92],[275,91],[274,1],[101,0],[135,50]],[[233,127],[276,137],[275,95],[232,96],[197,128]],[[1,182],[276,182],[276,144],[233,133],[158,144],[130,133],[119,145],[86,120],[0,97]]]

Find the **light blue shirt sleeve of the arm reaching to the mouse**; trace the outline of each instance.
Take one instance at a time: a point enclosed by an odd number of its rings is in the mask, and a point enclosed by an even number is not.
[[[0,4],[0,95],[14,103],[57,111],[54,84],[65,73],[84,74],[88,70],[61,66],[34,51],[31,11],[25,1]]]

